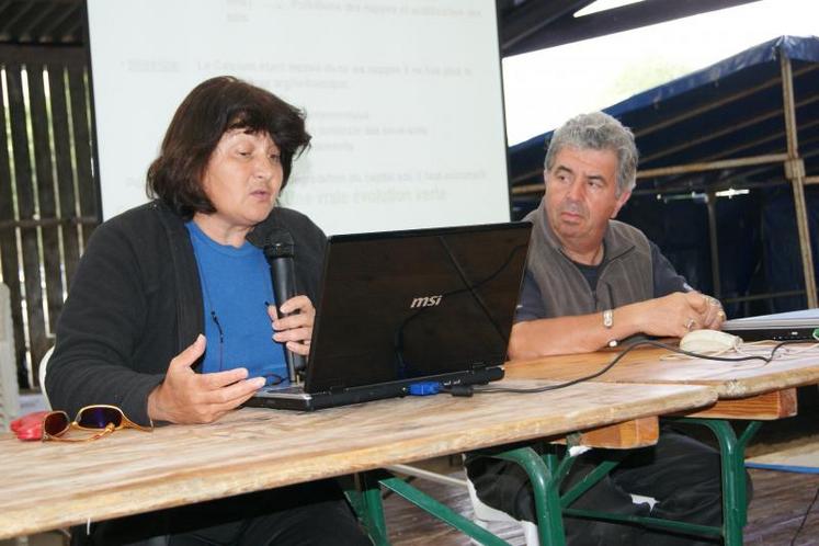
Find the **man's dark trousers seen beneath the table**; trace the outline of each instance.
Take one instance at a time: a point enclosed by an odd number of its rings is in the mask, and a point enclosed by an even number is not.
[[[720,525],[723,496],[719,453],[686,435],[663,430],[657,445],[629,452],[593,450],[579,456],[562,491],[568,490],[602,460],[619,465],[582,497],[572,508],[621,514],[651,515],[668,520]],[[467,474],[481,501],[519,520],[536,521],[532,486],[514,463],[468,458]],[[751,498],[750,477],[748,478]],[[635,504],[630,493],[657,500],[653,509]],[[639,525],[565,517],[567,544],[694,546],[719,544]]]

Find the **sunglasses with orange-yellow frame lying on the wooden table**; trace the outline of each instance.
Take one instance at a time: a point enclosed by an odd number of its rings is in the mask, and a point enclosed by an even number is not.
[[[83,431],[98,431],[89,437],[70,439],[62,435],[71,429]],[[123,410],[116,406],[86,406],[77,412],[73,421],[68,419],[65,411],[52,411],[43,418],[43,441],[55,440],[59,442],[90,442],[120,429],[136,429],[151,432],[153,425],[143,426],[125,417]]]

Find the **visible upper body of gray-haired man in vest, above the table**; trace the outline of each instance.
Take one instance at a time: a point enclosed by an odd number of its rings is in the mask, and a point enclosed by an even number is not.
[[[641,231],[613,218],[632,195],[637,148],[602,112],[557,129],[512,329],[510,357],[596,351],[635,333],[718,329],[719,303],[694,292]]]

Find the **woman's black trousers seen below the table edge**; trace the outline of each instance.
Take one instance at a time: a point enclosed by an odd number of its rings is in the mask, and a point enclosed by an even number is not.
[[[371,546],[333,480],[137,514],[71,530],[71,546]]]

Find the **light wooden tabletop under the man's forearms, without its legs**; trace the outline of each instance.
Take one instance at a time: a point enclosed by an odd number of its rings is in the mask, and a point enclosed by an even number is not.
[[[754,351],[760,345],[755,345]],[[773,343],[763,345],[772,348]],[[801,348],[805,345],[789,345]],[[569,380],[601,369],[616,351],[559,355],[507,363],[507,377]],[[637,349],[594,382],[708,385],[720,399],[747,398],[819,383],[819,354],[775,360],[729,363],[705,359],[666,360],[663,349]]]

